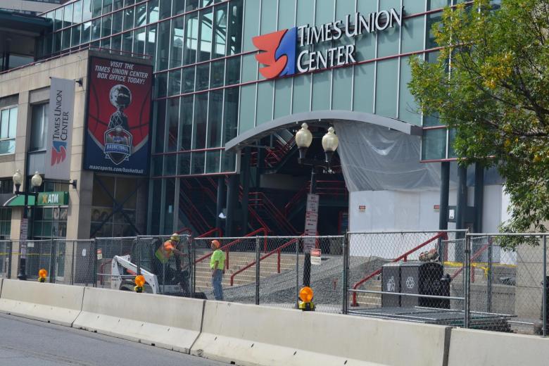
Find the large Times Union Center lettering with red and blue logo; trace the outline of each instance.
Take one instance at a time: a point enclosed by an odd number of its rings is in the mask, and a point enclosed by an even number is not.
[[[322,51],[311,51],[313,45],[335,42],[345,36],[353,39],[362,34],[382,32],[402,26],[403,7],[377,11],[368,15],[355,13],[345,20],[324,25],[301,25],[286,30],[253,37],[260,51],[255,59],[265,65],[259,72],[266,79],[295,75],[302,72],[330,69],[357,62],[354,44],[334,46]],[[306,47],[303,49],[303,47]],[[303,50],[302,50],[303,49]]]

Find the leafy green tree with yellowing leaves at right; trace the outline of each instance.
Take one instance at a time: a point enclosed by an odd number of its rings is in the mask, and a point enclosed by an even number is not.
[[[412,58],[424,115],[456,131],[460,164],[497,165],[512,203],[503,231],[549,220],[549,0],[476,0],[443,11],[434,63]]]

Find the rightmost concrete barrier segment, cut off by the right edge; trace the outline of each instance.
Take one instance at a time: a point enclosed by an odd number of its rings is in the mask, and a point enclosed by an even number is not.
[[[548,365],[549,339],[452,329],[448,366]]]

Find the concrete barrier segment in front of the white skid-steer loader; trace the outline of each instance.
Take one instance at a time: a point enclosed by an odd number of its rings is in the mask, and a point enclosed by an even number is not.
[[[203,300],[130,291],[84,291],[73,327],[189,353],[200,334]]]

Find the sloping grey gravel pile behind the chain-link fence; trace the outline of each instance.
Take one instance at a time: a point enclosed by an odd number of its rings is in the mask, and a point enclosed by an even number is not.
[[[377,270],[386,263],[379,258],[351,257],[349,263],[349,286]],[[311,287],[315,291],[314,303],[321,305],[322,311],[340,313],[342,309],[343,258],[341,255],[324,255],[322,265],[311,266]],[[298,283],[303,282],[303,267],[298,271]],[[335,287],[335,289],[334,289]],[[255,303],[255,283],[243,286],[225,287],[225,301]],[[211,291],[206,292],[213,298]],[[260,282],[260,303],[282,305],[294,308],[296,303],[296,270],[286,270]],[[319,309],[320,310],[320,309]]]

